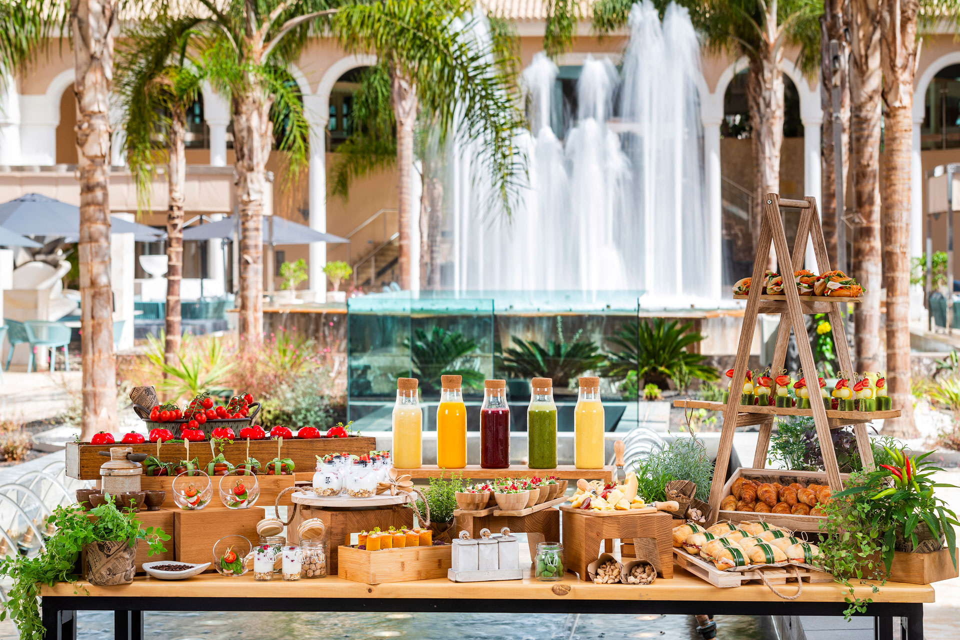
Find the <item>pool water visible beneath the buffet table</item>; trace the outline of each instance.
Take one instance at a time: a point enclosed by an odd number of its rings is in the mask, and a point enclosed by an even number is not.
[[[716,616],[715,620],[720,639],[776,637],[768,617]],[[77,637],[108,637],[112,626],[112,611],[82,612]],[[144,616],[145,637],[163,640],[698,640],[695,627],[693,616],[636,614],[150,612]]]

